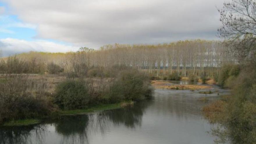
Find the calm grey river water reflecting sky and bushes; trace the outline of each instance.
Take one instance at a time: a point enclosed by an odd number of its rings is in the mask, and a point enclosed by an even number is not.
[[[2,127],[0,144],[212,144],[212,126],[201,113],[206,103],[198,98],[211,101],[228,91],[216,86],[211,91],[156,89],[152,100],[127,108]]]

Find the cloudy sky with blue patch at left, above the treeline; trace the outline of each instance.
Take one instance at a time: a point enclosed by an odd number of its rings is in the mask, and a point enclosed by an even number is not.
[[[224,0],[0,0],[0,51],[217,40]]]

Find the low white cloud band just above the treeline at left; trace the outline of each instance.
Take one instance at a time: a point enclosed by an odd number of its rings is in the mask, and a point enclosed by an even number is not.
[[[26,41],[13,38],[0,39],[0,49],[3,56],[19,54],[29,51],[47,51],[47,52],[68,52],[77,51],[78,47],[58,44],[46,40]]]

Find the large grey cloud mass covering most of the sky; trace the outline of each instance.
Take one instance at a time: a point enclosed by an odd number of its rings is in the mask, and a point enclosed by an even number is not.
[[[154,43],[216,39],[216,6],[223,0],[2,0],[37,38],[100,47],[109,43]]]

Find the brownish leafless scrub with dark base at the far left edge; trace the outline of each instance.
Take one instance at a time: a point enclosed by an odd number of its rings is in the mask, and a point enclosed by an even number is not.
[[[0,124],[8,120],[40,118],[53,109],[43,82],[35,83],[28,76],[8,76],[0,83]],[[33,85],[37,85],[33,88]],[[42,84],[45,85],[45,84]]]

